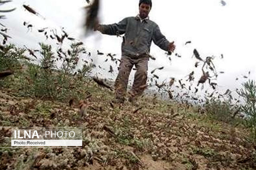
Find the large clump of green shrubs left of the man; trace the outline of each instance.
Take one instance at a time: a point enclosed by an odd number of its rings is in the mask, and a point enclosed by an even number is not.
[[[22,61],[20,58],[26,51],[14,45],[9,48],[14,50],[2,51],[0,55],[5,61],[3,68],[21,68],[23,70],[12,79],[4,79],[5,88],[10,88],[21,96],[32,96],[44,99],[67,100],[70,98],[83,98],[86,91],[87,76],[93,68],[92,64],[84,63],[77,70],[79,57],[85,49],[79,43],[73,43],[67,51],[61,51],[59,58],[55,57],[51,45],[40,43],[40,56],[38,63]],[[5,54],[3,54],[5,52]],[[3,61],[0,59],[0,61]],[[9,67],[7,67],[9,66]],[[59,67],[57,67],[59,66]],[[2,68],[1,67],[1,68]],[[0,83],[3,81],[0,80]]]

